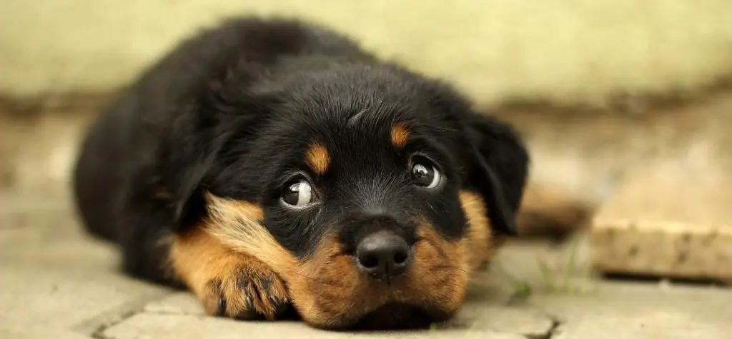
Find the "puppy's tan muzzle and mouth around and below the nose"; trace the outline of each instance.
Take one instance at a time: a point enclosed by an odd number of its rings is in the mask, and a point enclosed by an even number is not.
[[[284,270],[302,319],[331,330],[429,327],[458,311],[470,267],[459,244],[422,232],[412,259],[388,283],[354,264],[337,241],[324,241],[296,271]]]

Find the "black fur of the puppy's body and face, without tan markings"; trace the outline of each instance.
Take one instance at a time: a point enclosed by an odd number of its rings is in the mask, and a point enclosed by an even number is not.
[[[403,149],[389,139],[395,123],[410,132]],[[324,175],[305,166],[313,140],[332,158]],[[411,183],[417,153],[444,174],[443,186]],[[412,238],[420,217],[458,239],[462,189],[481,194],[496,232],[510,233],[528,160],[509,126],[474,113],[449,85],[325,28],[244,18],[183,42],[102,113],[74,184],[84,223],[121,245],[124,270],[172,283],[159,240],[205,216],[204,190],[261,205],[272,235],[307,256],[326,232],[346,248],[369,227]],[[280,202],[298,172],[313,182],[316,207]]]

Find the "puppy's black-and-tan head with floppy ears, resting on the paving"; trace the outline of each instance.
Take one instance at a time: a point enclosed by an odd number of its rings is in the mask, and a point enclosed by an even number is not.
[[[510,129],[396,67],[260,91],[266,121],[232,133],[206,184],[212,232],[280,273],[315,326],[421,327],[458,311],[494,235],[515,229],[527,157]]]

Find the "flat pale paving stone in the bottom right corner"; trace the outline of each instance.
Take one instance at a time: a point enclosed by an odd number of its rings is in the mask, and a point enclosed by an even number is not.
[[[727,289],[657,283],[602,283],[594,294],[531,300],[559,321],[558,339],[728,339],[731,302]]]

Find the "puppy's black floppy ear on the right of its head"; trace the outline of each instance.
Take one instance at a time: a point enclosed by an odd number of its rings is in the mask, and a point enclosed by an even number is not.
[[[516,217],[529,172],[529,153],[523,141],[507,123],[474,112],[447,86],[433,91],[430,100],[447,113],[449,124],[459,133],[463,188],[482,196],[496,232],[517,235]]]

